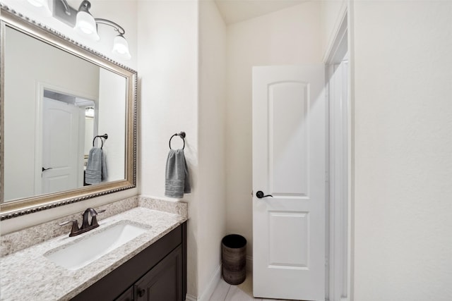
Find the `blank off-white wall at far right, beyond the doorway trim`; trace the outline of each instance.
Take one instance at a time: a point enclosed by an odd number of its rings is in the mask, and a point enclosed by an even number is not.
[[[355,300],[452,298],[451,17],[352,6]]]

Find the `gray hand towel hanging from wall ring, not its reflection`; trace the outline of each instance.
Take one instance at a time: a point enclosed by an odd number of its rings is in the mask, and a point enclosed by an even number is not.
[[[169,149],[166,174],[165,196],[180,199],[190,193],[189,169],[186,166],[184,149]]]

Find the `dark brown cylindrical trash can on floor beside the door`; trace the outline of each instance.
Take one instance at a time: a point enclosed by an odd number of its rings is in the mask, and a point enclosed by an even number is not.
[[[246,239],[230,234],[222,239],[222,276],[229,284],[237,285],[246,278]]]

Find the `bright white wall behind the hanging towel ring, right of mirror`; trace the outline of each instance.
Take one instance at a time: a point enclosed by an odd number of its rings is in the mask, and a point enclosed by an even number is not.
[[[189,203],[188,293],[197,295],[198,250],[198,4],[196,1],[138,2],[141,194],[165,198],[168,141],[184,131],[192,190]],[[172,147],[182,147],[174,137]],[[177,202],[177,199],[172,199]]]

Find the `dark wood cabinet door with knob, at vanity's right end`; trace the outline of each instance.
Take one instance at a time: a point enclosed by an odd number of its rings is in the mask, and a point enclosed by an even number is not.
[[[135,283],[136,300],[183,301],[182,247],[179,246]]]

